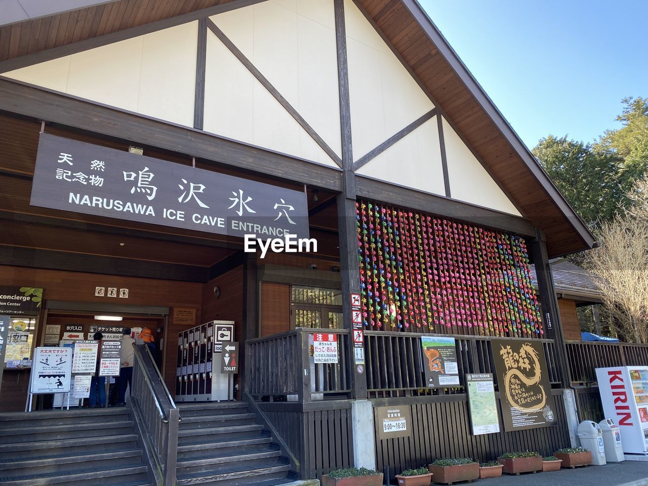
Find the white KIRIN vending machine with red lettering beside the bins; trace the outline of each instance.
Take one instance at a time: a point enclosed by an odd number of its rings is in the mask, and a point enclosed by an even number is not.
[[[605,418],[621,431],[625,454],[648,454],[648,366],[597,368]]]

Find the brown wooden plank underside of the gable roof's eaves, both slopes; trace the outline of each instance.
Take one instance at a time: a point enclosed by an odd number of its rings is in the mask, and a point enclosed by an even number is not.
[[[261,0],[119,0],[0,28],[0,73]],[[540,228],[550,257],[595,239],[416,0],[355,0],[474,154]]]

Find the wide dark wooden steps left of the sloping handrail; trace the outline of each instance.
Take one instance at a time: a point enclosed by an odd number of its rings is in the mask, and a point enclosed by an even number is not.
[[[127,408],[0,413],[0,486],[150,486]]]

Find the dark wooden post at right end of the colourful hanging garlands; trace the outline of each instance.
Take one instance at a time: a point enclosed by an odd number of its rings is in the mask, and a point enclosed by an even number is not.
[[[547,245],[544,233],[536,229],[536,237],[531,241],[531,250],[533,251],[533,263],[535,264],[535,274],[538,279],[538,294],[542,305],[542,315],[545,323],[545,338],[552,339],[556,343],[556,354],[560,367],[561,381],[563,388],[569,388],[572,384],[570,378],[567,347],[565,345],[564,334],[562,333],[561,316],[556,298],[556,289],[553,284],[553,276],[549,258],[547,256]]]

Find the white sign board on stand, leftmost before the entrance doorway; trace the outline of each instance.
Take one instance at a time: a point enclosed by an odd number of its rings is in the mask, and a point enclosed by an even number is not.
[[[72,349],[37,347],[32,362],[30,393],[67,393],[72,376]]]

